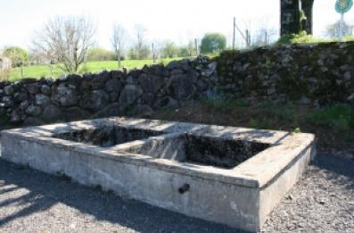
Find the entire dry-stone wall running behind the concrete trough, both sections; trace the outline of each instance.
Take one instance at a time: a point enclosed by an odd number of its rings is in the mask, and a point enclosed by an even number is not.
[[[225,52],[129,72],[0,82],[0,117],[41,124],[177,108],[202,96],[321,105],[354,102],[354,43]]]

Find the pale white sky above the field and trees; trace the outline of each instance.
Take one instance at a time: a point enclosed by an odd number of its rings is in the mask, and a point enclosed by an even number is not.
[[[323,36],[325,27],[340,18],[334,11],[335,0],[315,0],[314,34]],[[128,42],[134,41],[136,24],[147,30],[151,43],[172,40],[178,45],[206,32],[220,32],[231,44],[233,18],[251,34],[259,28],[279,30],[280,0],[0,0],[0,48],[29,48],[34,31],[54,16],[86,16],[96,28],[96,46],[111,49],[114,23],[128,30]],[[354,10],[346,13],[354,23]],[[277,36],[276,36],[277,37]],[[241,36],[237,42],[242,43]],[[241,44],[240,44],[241,45]]]

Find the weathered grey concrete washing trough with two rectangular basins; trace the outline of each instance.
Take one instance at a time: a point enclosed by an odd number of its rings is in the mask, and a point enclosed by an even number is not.
[[[311,134],[124,118],[1,134],[5,160],[250,231],[315,153]]]

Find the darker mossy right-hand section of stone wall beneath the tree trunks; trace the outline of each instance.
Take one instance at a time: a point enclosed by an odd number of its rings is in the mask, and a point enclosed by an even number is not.
[[[285,45],[218,57],[223,93],[324,105],[354,101],[354,43]]]

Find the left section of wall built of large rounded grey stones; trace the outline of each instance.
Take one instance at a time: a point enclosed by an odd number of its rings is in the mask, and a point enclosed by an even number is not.
[[[216,63],[200,57],[129,72],[0,82],[0,117],[31,125],[150,113],[198,98],[217,80]]]

